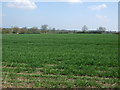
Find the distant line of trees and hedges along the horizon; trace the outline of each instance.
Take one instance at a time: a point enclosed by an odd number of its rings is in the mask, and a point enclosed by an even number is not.
[[[41,33],[56,33],[56,34],[69,34],[69,33],[91,33],[91,34],[102,34],[102,33],[115,33],[118,34],[119,32],[113,32],[113,31],[106,31],[105,27],[99,27],[96,30],[88,30],[87,26],[84,25],[80,31],[78,30],[58,30],[55,28],[48,28],[48,25],[42,25],[40,29],[37,27],[32,28],[18,28],[18,27],[12,27],[12,28],[2,28],[2,34],[41,34]]]

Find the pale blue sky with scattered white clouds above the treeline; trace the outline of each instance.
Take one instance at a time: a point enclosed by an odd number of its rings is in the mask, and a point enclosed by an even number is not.
[[[25,1],[25,2],[24,2]],[[118,30],[117,2],[2,2],[2,27],[41,27],[80,30],[99,26]]]

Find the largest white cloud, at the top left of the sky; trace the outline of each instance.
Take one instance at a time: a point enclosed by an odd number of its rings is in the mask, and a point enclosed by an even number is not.
[[[33,10],[37,8],[35,2],[31,0],[14,0],[14,2],[8,2],[7,7],[19,8],[19,9],[29,9]]]

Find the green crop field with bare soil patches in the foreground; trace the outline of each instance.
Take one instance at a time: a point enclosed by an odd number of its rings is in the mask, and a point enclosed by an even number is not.
[[[118,35],[4,34],[3,86],[117,88]]]

